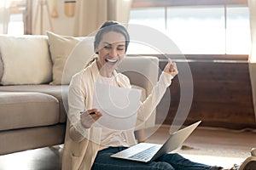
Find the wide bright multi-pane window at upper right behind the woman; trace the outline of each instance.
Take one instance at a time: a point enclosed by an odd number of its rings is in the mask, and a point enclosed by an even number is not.
[[[129,23],[165,33],[183,54],[249,54],[250,50],[249,10],[244,4],[131,8]],[[134,50],[128,52],[136,54]],[[140,54],[147,52],[140,48]]]

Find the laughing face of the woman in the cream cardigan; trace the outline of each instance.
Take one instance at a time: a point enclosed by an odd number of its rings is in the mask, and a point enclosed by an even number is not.
[[[103,34],[96,52],[99,56],[97,66],[102,76],[111,77],[114,69],[125,56],[125,37],[114,31]]]

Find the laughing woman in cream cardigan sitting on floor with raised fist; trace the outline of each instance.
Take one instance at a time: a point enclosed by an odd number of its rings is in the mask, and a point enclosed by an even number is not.
[[[109,160],[112,148],[114,152],[125,149],[127,146],[131,146],[137,143],[134,135],[134,129],[132,126],[129,129],[115,129],[108,127],[94,127],[95,122],[100,122],[104,116],[105,110],[100,107],[104,103],[95,105],[95,100],[101,98],[101,95],[106,92],[108,88],[96,91],[96,84],[102,83],[107,87],[123,88],[128,90],[131,88],[131,83],[128,77],[122,73],[115,71],[120,61],[124,58],[126,49],[130,42],[130,36],[125,26],[122,26],[118,22],[109,20],[106,21],[102,27],[97,31],[95,37],[95,52],[96,59],[90,62],[90,65],[86,66],[84,70],[79,71],[73,76],[70,82],[68,90],[68,121],[67,121],[67,139],[65,141],[63,152],[63,165],[62,169],[113,169],[113,165],[117,164],[118,160]],[[155,84],[152,93],[148,95],[144,101],[138,101],[137,105],[137,126],[142,125],[151,116],[151,113],[155,110],[156,105],[159,104],[160,99],[166,93],[166,88],[171,85],[172,78],[177,75],[177,66],[172,63],[170,59],[166,64],[164,71],[160,74],[159,82]],[[107,93],[109,94],[109,93]],[[110,95],[110,94],[109,94]],[[119,94],[120,99],[124,99],[125,96]],[[139,98],[138,98],[139,99]],[[134,100],[132,100],[134,101]],[[105,101],[104,102],[108,102]],[[112,100],[110,101],[112,102]],[[117,102],[113,102],[115,105]],[[132,102],[131,102],[132,103]],[[88,113],[96,112],[96,114],[80,114],[80,111],[87,111]],[[119,115],[122,114],[121,111]],[[131,113],[131,110],[128,110]],[[132,112],[133,113],[133,112]],[[111,113],[109,113],[111,114]],[[105,116],[106,117],[106,116]],[[129,124],[129,116],[122,117],[123,120]],[[110,123],[119,123],[114,119],[108,119]],[[136,124],[136,122],[134,122]],[[102,125],[102,124],[101,124]],[[119,147],[122,146],[122,147]],[[123,147],[124,146],[124,147]],[[107,155],[105,152],[107,151]],[[76,157],[74,157],[76,156]],[[170,156],[170,158],[168,158]],[[164,156],[165,157],[165,156]],[[172,159],[171,159],[172,157]],[[74,159],[75,158],[75,159]],[[172,169],[177,164],[178,160],[183,160],[183,157],[177,155],[168,155],[166,159],[160,159],[161,166],[165,167],[168,162],[168,167]],[[76,161],[74,161],[76,160]],[[171,162],[172,160],[172,162]],[[176,161],[175,161],[176,160]],[[108,161],[106,164],[105,162]],[[198,164],[195,162],[187,161],[191,166],[208,167],[207,165]],[[155,167],[157,162],[153,162],[144,167]],[[118,167],[114,169],[131,169],[134,167],[137,169],[137,162],[131,162],[131,165],[127,165],[125,161],[121,161]],[[186,165],[183,165],[184,167]]]

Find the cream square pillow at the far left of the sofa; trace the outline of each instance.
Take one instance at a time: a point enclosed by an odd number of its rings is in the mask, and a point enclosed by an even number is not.
[[[51,60],[46,36],[0,36],[3,61],[1,84],[41,84],[51,80]]]

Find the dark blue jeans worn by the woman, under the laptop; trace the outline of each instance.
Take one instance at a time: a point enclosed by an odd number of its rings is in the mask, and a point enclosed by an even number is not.
[[[91,170],[217,170],[211,167],[185,159],[178,154],[165,154],[155,161],[148,163],[126,161],[110,157],[112,154],[125,150],[125,147],[109,147],[100,150]]]

